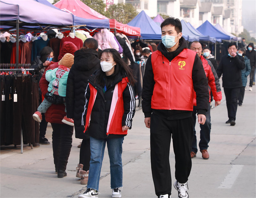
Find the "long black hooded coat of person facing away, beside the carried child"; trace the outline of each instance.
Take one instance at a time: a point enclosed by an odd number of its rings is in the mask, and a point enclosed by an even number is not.
[[[84,133],[81,121],[84,111],[84,93],[90,75],[100,68],[100,55],[93,49],[78,50],[74,55],[74,65],[69,71],[67,80],[67,117],[74,119],[76,138],[87,139],[89,135]]]

